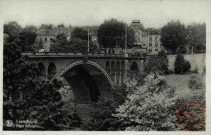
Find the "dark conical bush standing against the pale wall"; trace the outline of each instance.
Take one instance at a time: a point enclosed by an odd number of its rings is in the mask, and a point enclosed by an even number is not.
[[[191,68],[190,63],[184,59],[183,54],[179,53],[174,63],[174,73],[184,74]]]

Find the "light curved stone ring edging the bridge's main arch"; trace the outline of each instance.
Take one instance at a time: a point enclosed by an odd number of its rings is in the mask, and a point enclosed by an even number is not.
[[[76,61],[74,63],[71,63],[70,65],[68,65],[64,70],[62,70],[61,72],[58,72],[54,78],[60,78],[62,77],[62,75],[64,75],[68,70],[70,70],[71,68],[75,67],[75,66],[78,66],[78,65],[82,65],[82,64],[88,64],[88,65],[92,65],[96,68],[98,68],[104,75],[105,77],[108,79],[111,87],[114,87],[114,83],[111,79],[111,77],[108,75],[108,73],[106,72],[106,70],[101,66],[99,65],[98,63],[96,62],[93,62],[93,61],[87,61],[86,63],[84,63],[84,61],[82,60],[79,60],[79,61]]]

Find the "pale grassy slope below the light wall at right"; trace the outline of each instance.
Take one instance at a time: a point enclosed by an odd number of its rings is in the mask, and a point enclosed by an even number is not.
[[[201,76],[198,74],[205,83],[205,76]],[[167,75],[166,76],[166,82],[168,85],[176,88],[176,92],[180,96],[185,96],[187,94],[190,94],[191,89],[189,89],[189,79],[191,75]]]

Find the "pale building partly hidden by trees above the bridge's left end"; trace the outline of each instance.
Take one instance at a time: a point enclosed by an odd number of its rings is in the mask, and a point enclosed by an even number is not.
[[[49,52],[50,46],[53,44],[53,40],[56,39],[58,34],[64,33],[67,36],[67,40],[71,39],[71,28],[55,27],[53,29],[41,29],[37,31],[37,41],[42,42],[45,52]]]

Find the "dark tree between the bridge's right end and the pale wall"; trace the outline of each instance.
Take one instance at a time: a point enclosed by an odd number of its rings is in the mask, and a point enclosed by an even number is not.
[[[145,71],[158,72],[160,74],[166,74],[168,72],[168,58],[165,51],[160,51],[158,56],[150,56],[146,62]]]

